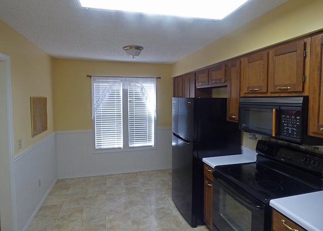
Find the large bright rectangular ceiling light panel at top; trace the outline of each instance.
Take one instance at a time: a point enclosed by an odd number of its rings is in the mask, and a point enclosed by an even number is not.
[[[222,20],[250,0],[77,0],[82,8]]]

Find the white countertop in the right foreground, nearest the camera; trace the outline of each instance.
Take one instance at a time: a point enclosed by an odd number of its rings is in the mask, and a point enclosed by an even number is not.
[[[269,204],[307,230],[323,230],[323,191],[272,199]]]

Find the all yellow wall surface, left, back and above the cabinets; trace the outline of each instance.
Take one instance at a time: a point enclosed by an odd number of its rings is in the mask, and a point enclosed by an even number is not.
[[[173,66],[60,59],[52,62],[48,54],[0,21],[0,52],[11,57],[15,154],[54,131],[53,111],[56,131],[91,129],[90,80],[85,77],[87,74],[160,76],[161,80],[157,81],[157,126],[169,127],[172,76],[321,29],[322,9],[321,0],[291,0]],[[31,137],[30,96],[45,96],[48,102],[48,130],[34,138]],[[17,150],[19,138],[22,138],[23,148]]]

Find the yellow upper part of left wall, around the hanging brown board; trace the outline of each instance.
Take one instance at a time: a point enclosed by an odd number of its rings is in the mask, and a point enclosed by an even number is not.
[[[15,154],[54,131],[51,57],[0,20],[0,52],[10,56]],[[30,97],[47,97],[48,130],[31,137]],[[17,150],[17,140],[22,149]]]

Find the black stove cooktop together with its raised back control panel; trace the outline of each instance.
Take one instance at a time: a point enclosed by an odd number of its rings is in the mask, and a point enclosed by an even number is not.
[[[214,179],[265,204],[274,198],[323,189],[323,157],[317,153],[260,140],[256,151],[256,162],[216,166]]]

